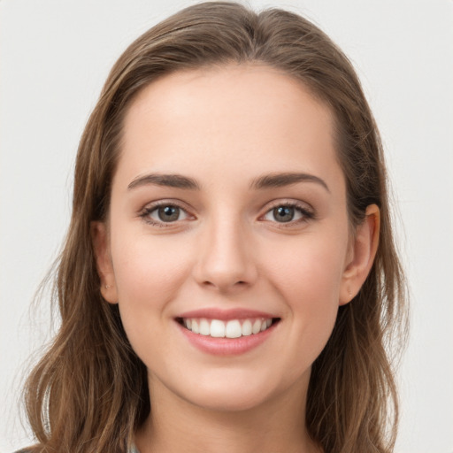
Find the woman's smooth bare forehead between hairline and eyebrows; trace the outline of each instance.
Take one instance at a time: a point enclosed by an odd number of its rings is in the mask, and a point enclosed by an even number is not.
[[[151,169],[233,177],[233,170],[240,176],[297,165],[332,173],[333,131],[328,107],[271,67],[177,72],[150,83],[129,107],[119,170],[130,178]]]

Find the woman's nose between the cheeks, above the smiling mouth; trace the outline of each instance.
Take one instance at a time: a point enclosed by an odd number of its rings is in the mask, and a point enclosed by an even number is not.
[[[201,233],[194,277],[221,293],[249,288],[257,280],[256,250],[239,220],[212,221]]]

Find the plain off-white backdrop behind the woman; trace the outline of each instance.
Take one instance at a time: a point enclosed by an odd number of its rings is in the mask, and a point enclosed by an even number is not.
[[[57,256],[73,161],[127,44],[188,0],[0,0],[0,451],[30,442],[19,389],[50,336],[29,311]],[[349,55],[380,126],[411,288],[397,452],[453,452],[453,2],[250,1],[313,20]],[[36,357],[36,352],[35,352]]]

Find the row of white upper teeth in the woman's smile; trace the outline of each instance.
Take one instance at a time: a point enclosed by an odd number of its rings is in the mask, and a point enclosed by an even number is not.
[[[216,338],[239,338],[244,335],[258,334],[272,325],[272,319],[219,319],[184,318],[184,326],[194,334],[202,334]]]

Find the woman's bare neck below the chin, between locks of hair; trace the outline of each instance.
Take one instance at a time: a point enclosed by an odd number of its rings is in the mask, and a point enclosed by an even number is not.
[[[140,453],[319,453],[305,430],[306,388],[242,411],[206,409],[153,383],[150,417],[136,434]]]

